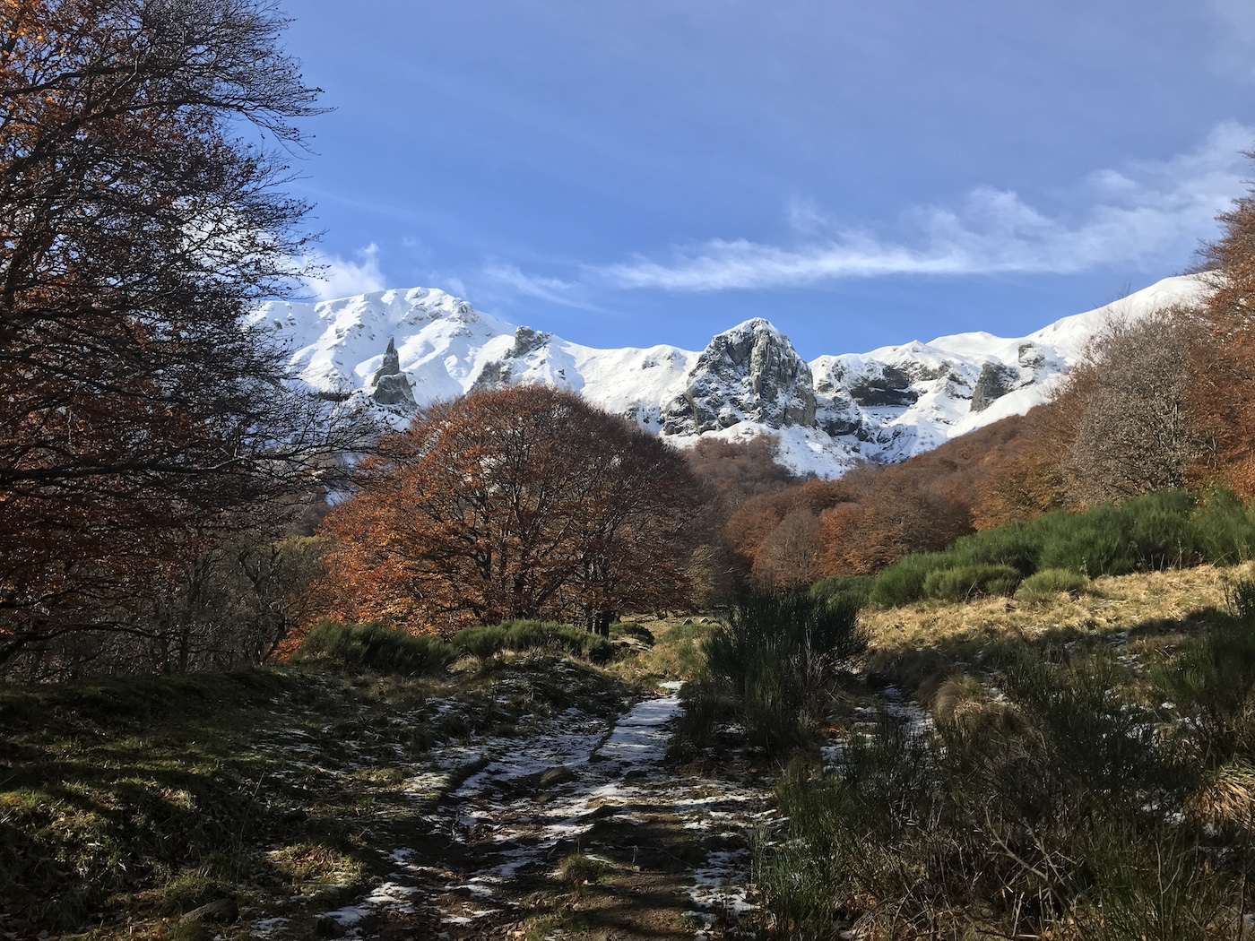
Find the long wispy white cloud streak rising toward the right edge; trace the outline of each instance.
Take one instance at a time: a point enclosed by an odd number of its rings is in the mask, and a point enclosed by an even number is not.
[[[956,207],[912,211],[917,235],[886,240],[842,231],[813,206],[791,207],[806,241],[767,245],[714,240],[679,248],[658,261],[638,256],[595,270],[620,289],[728,291],[801,287],[842,279],[890,275],[1074,274],[1103,265],[1168,261],[1183,265],[1200,238],[1215,231],[1216,213],[1244,191],[1241,152],[1255,130],[1226,122],[1197,149],[1167,161],[1130,163],[1084,179],[1072,215],[1049,215],[1018,193],[973,189]],[[817,232],[826,228],[828,235]],[[1175,260],[1175,261],[1173,261]]]

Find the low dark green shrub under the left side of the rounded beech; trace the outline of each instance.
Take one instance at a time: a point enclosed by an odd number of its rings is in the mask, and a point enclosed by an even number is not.
[[[435,636],[414,635],[378,622],[319,621],[294,659],[334,664],[350,671],[420,676],[444,671],[453,656],[453,649]]]

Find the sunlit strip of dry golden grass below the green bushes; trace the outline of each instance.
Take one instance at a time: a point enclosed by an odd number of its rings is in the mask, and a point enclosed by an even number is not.
[[[1175,647],[1226,605],[1226,588],[1255,573],[1200,566],[1146,575],[1094,578],[1078,597],[1005,597],[970,602],[924,601],[866,609],[866,667],[917,688],[956,662],[996,660],[1017,647],[1127,634],[1131,652]],[[936,680],[934,680],[936,681]]]

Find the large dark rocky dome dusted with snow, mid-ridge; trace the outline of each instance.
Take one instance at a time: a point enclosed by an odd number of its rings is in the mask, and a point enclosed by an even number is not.
[[[811,366],[762,319],[719,334],[698,358],[684,394],[663,410],[664,434],[703,434],[740,422],[814,428]]]

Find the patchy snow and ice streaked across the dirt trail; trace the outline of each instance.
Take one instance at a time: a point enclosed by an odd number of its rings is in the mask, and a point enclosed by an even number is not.
[[[520,886],[543,886],[562,857],[577,848],[587,854],[589,834],[599,823],[620,818],[634,827],[659,813],[674,817],[681,831],[718,837],[724,847],[739,844],[712,851],[692,871],[688,888],[678,885],[695,906],[692,915],[703,926],[698,936],[748,911],[750,858],[743,846],[769,814],[766,793],[680,778],[664,765],[681,709],[679,685],[666,684],[665,695],[638,703],[611,729],[604,720],[569,711],[525,736],[457,748],[456,758],[442,765],[466,767],[472,757],[484,764],[443,799],[428,800],[424,818],[433,838],[453,848],[448,856],[464,864],[451,872],[423,864],[432,862],[424,852],[399,848],[392,854],[395,871],[383,885],[323,917],[349,937],[370,937],[374,922],[418,910],[452,936],[491,916],[521,917],[510,915]],[[415,780],[415,799],[425,799],[434,782],[422,778]],[[259,935],[281,927],[254,925]]]

